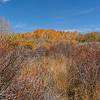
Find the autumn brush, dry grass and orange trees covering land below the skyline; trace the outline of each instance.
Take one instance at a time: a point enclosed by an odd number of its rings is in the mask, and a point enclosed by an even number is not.
[[[1,100],[100,100],[100,33],[37,30],[0,38]]]

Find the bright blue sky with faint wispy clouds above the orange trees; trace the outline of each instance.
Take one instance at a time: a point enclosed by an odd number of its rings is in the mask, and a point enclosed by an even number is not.
[[[15,32],[100,31],[100,0],[0,0],[0,16]]]

